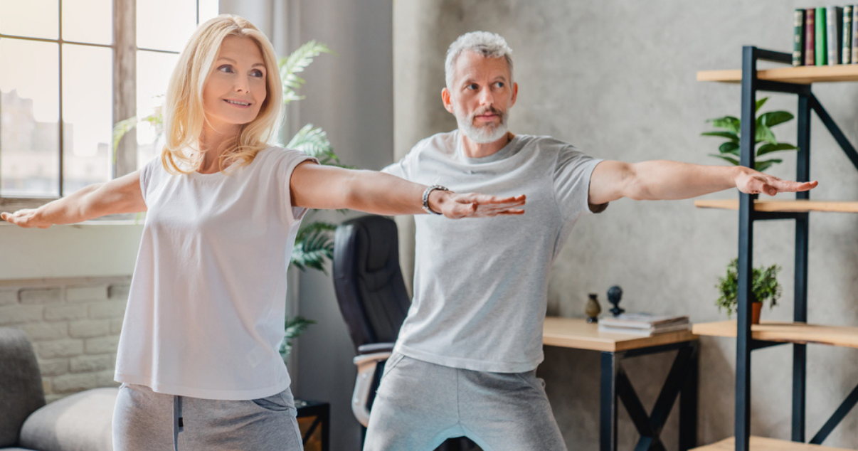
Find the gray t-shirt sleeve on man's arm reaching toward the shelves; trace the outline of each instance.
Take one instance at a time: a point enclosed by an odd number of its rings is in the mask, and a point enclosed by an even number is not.
[[[590,177],[601,161],[570,145],[560,149],[554,164],[554,198],[565,219],[601,213],[607,207],[607,203],[590,206],[588,202]]]

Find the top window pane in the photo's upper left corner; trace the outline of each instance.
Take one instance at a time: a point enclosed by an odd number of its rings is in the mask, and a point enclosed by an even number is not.
[[[57,0],[0,0],[0,33],[57,39]]]

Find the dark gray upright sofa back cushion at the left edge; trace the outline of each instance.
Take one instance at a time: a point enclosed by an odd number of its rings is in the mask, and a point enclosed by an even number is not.
[[[0,406],[0,448],[17,445],[21,424],[45,406],[39,364],[20,329],[0,328]]]

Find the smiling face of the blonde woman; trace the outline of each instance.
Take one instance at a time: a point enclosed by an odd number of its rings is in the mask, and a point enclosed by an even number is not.
[[[237,133],[259,114],[268,94],[262,51],[250,38],[227,36],[202,89],[208,122],[218,133]]]

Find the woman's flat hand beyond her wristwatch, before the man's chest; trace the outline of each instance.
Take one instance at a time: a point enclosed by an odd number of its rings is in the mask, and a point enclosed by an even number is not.
[[[450,219],[487,218],[509,214],[524,214],[525,195],[498,197],[475,193],[458,194],[436,189],[429,195],[432,211]]]

